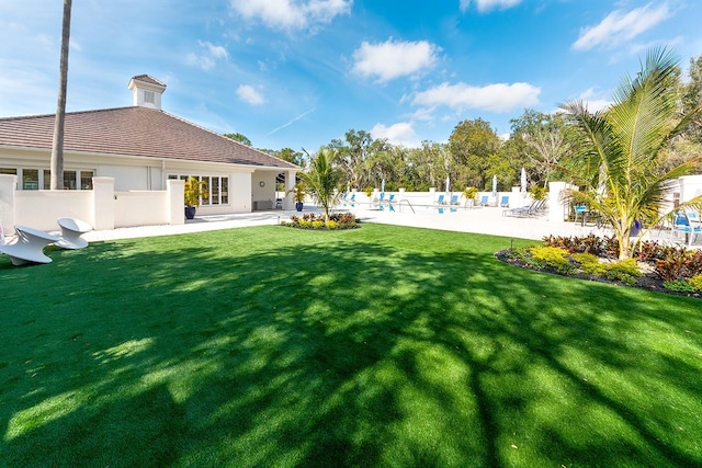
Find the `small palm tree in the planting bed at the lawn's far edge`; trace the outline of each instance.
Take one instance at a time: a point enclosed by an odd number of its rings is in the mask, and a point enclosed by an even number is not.
[[[309,171],[299,174],[302,181],[312,192],[313,198],[324,210],[325,224],[329,222],[329,210],[341,196],[339,185],[342,173],[331,163],[335,157],[336,155],[331,149],[321,148],[317,156],[312,158]]]

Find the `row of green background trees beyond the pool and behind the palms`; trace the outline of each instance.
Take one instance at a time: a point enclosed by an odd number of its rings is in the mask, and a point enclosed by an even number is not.
[[[677,115],[684,115],[702,103],[702,55],[690,59],[689,80],[676,67],[668,85],[675,90]],[[473,186],[491,190],[492,176],[498,186],[508,190],[520,185],[521,169],[529,174],[529,186],[546,186],[548,181],[569,179],[567,161],[578,155],[581,135],[567,112],[543,113],[532,109],[510,121],[510,135],[502,139],[483,118],[456,124],[448,142],[422,141],[418,148],[393,145],[373,138],[366,130],[349,129],[343,139],[322,146],[332,150],[331,163],[341,170],[341,184],[349,189],[380,187],[386,191],[444,190],[450,178],[456,191]],[[250,145],[241,134],[227,135]],[[310,158],[303,150],[283,148],[270,155],[308,168]],[[697,116],[684,133],[661,149],[660,171],[702,155],[702,118]],[[697,167],[701,171],[701,167]]]

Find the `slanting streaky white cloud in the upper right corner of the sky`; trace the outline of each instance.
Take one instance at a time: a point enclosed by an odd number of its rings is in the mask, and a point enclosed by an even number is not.
[[[670,16],[668,4],[634,9],[630,12],[614,10],[599,24],[580,30],[580,37],[573,44],[577,50],[589,50],[602,44],[616,45],[631,41]]]

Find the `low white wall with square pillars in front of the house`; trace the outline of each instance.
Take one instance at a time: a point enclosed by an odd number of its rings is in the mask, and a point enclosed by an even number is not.
[[[170,180],[166,191],[115,192],[114,179],[93,178],[90,191],[18,191],[16,175],[0,174],[0,221],[58,230],[56,219],[71,217],[97,230],[133,226],[182,225],[183,181]]]

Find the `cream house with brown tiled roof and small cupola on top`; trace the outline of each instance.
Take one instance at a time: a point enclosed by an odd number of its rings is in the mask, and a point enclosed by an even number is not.
[[[196,176],[208,196],[199,214],[246,213],[275,205],[275,181],[294,185],[299,167],[161,110],[166,84],[140,75],[129,80],[134,105],[66,114],[64,185],[90,191],[111,178],[115,192],[166,191],[167,181]],[[0,118],[0,174],[16,190],[49,189],[55,115]],[[286,197],[284,207],[292,207]]]

